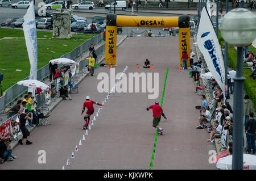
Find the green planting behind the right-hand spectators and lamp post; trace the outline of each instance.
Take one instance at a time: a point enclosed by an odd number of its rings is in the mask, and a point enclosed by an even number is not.
[[[225,44],[224,39],[221,37],[221,33],[218,34],[218,40],[220,41],[221,46]],[[254,53],[253,45],[250,45],[249,50]],[[234,70],[237,67],[237,51],[233,46],[228,45],[228,66],[233,66]],[[246,63],[243,63],[243,66],[247,66]],[[251,101],[254,104],[254,108],[256,109],[256,79],[249,77],[253,73],[251,69],[243,69],[243,77],[245,77],[244,89],[246,94],[249,95]]]

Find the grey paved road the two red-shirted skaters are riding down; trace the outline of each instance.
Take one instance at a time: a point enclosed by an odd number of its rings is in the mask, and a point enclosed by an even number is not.
[[[195,95],[188,71],[178,69],[178,37],[129,37],[118,47],[115,74],[159,73],[159,96],[148,99],[146,93],[114,93],[101,110],[89,134],[81,141],[85,131],[80,115],[85,96],[102,103],[106,93],[99,93],[97,75],[110,69],[100,67],[96,76],[86,77],[79,85],[79,94],[72,94],[73,100],[62,101],[51,113],[51,125],[38,127],[32,132],[32,145],[19,145],[14,150],[18,158],[0,165],[1,169],[146,169],[151,162],[155,141],[152,127],[152,111],[146,107],[161,101],[164,78],[169,68],[163,111],[168,117],[162,119],[160,127],[164,136],[156,142],[152,169],[216,169],[208,163],[208,151],[214,145],[207,142],[209,133],[196,129],[201,104],[200,96]],[[155,69],[135,69],[148,58]],[[107,81],[108,82],[108,81]],[[127,87],[130,86],[127,81]],[[155,85],[155,81],[152,85]],[[94,106],[98,110],[98,106]],[[94,113],[94,115],[96,112]],[[93,116],[91,116],[93,119]],[[46,151],[46,163],[38,163],[38,151]],[[72,151],[75,158],[71,158]],[[66,166],[67,159],[71,165]]]

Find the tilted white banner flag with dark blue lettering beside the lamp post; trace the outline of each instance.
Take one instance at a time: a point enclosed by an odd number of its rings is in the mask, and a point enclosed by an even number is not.
[[[221,90],[224,92],[225,101],[225,68],[222,57],[220,43],[216,32],[214,31],[212,21],[208,15],[207,9],[203,8],[201,12],[199,29],[197,32],[197,45],[204,55],[209,71],[216,79]]]

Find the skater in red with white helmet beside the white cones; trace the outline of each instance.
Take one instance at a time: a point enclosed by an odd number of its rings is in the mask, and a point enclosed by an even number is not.
[[[82,129],[87,129],[88,128],[88,125],[89,125],[89,122],[90,122],[90,115],[92,115],[93,112],[94,112],[93,104],[97,104],[98,106],[103,106],[102,104],[100,104],[98,102],[94,102],[93,100],[90,100],[89,96],[86,96],[85,99],[86,100],[84,102],[84,106],[82,108],[81,115],[82,115],[82,113],[84,113],[85,107],[87,108],[87,111],[86,111],[85,116],[84,116],[85,125],[82,127]]]

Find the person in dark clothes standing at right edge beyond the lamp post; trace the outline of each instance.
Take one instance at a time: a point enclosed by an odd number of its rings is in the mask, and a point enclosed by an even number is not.
[[[245,132],[247,131],[247,151],[251,153],[251,146],[253,147],[253,154],[256,153],[255,148],[255,131],[256,131],[256,120],[253,118],[254,114],[251,112],[249,115],[249,120],[246,122]]]

